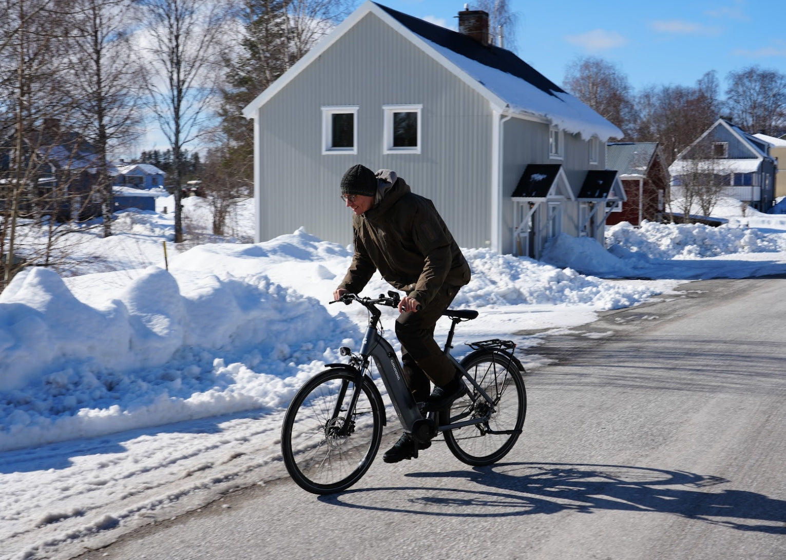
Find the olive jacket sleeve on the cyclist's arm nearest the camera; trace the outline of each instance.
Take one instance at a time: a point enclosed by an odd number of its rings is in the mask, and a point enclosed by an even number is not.
[[[427,306],[445,282],[453,258],[444,225],[433,208],[421,207],[413,220],[413,240],[424,256],[423,272],[410,298]]]

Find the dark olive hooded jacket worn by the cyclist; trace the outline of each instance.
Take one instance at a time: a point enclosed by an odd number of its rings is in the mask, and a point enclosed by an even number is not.
[[[428,306],[440,287],[464,286],[470,270],[431,200],[389,170],[376,174],[376,204],[352,217],[354,256],[339,285],[358,294],[376,270],[397,289]]]

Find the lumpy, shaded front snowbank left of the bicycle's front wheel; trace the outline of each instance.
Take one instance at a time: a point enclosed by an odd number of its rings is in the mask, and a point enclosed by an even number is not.
[[[279,407],[312,362],[337,361],[325,339],[358,335],[263,275],[181,290],[151,268],[97,309],[31,269],[0,304],[0,450]]]

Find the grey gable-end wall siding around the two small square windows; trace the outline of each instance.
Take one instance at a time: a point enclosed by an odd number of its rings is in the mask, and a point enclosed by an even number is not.
[[[358,87],[362,83],[362,87]],[[382,101],[380,101],[382,100]],[[383,104],[422,104],[421,154],[384,154]],[[358,155],[321,154],[323,106],[358,106]],[[259,239],[300,226],[351,243],[340,178],[395,170],[435,203],[461,247],[490,240],[488,102],[372,13],[259,109]]]

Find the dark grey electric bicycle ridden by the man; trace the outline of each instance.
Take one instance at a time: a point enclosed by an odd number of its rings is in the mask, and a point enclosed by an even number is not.
[[[406,386],[399,358],[380,327],[377,305],[398,307],[395,291],[387,297],[345,294],[340,302],[357,302],[369,311],[369,324],[358,353],[343,346],[348,364],[326,364],[292,399],[281,427],[281,452],[292,479],[314,494],[341,492],[360,480],[373,462],[387,424],[380,391],[371,377],[369,358],[387,390],[404,430],[417,441],[442,432],[450,452],[468,465],[496,463],[516,444],[527,412],[523,366],[509,340],[467,342],[472,352],[461,363],[450,355],[456,325],[478,317],[470,309],[447,309],[450,331],[444,352],[468,392],[439,412],[423,415]],[[331,302],[335,303],[335,302]],[[420,403],[422,404],[422,403]],[[416,455],[417,456],[417,455]]]

